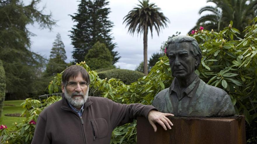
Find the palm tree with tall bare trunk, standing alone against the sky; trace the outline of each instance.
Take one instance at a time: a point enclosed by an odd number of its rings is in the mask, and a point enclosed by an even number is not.
[[[128,32],[133,34],[137,32],[138,34],[144,35],[144,73],[148,74],[148,66],[147,66],[147,34],[148,29],[150,29],[151,36],[153,28],[157,31],[157,35],[159,36],[159,32],[161,28],[167,27],[166,22],[169,22],[169,19],[160,12],[160,8],[158,8],[155,3],[150,3],[149,0],[139,1],[138,7],[133,8],[129,11],[128,15],[126,15],[123,19],[126,23],[126,27],[129,26]]]

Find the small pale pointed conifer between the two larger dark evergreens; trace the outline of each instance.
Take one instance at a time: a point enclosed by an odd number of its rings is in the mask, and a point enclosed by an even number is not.
[[[49,62],[46,65],[46,76],[54,76],[55,74],[62,72],[67,66],[65,63],[66,59],[67,56],[64,44],[60,33],[58,33],[53,42]]]

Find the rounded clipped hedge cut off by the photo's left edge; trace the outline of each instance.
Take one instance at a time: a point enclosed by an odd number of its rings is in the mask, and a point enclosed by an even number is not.
[[[0,118],[3,111],[5,91],[6,91],[5,72],[4,72],[3,63],[0,60]]]

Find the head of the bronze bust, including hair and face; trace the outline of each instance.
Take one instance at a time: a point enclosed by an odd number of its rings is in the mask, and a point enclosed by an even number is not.
[[[187,79],[201,63],[202,52],[195,38],[185,35],[173,37],[166,49],[173,77]]]

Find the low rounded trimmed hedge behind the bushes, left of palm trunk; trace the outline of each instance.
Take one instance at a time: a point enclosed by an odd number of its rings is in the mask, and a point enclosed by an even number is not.
[[[98,76],[100,79],[121,79],[125,84],[130,84],[137,81],[139,78],[144,77],[145,74],[134,70],[112,69],[99,72]]]

